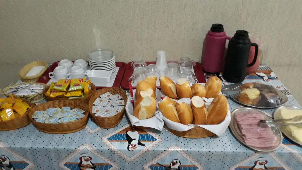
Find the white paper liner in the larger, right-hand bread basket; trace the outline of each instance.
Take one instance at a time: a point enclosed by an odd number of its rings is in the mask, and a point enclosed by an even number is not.
[[[185,103],[191,105],[191,99],[189,99],[189,98],[182,98],[182,99],[179,99],[178,101],[185,102]],[[160,102],[161,101],[159,101],[159,103]],[[210,103],[205,103],[205,105],[206,105],[206,107],[208,107],[208,106],[210,106]],[[173,122],[173,121],[167,119],[165,116],[162,115],[161,111],[159,111],[159,115],[170,129],[177,130],[179,132],[183,132],[183,131],[187,131],[187,130],[194,128],[194,126],[200,126],[204,129],[207,129],[210,132],[213,132],[217,136],[223,135],[223,133],[226,131],[227,127],[229,126],[229,124],[231,122],[230,110],[228,110],[228,112],[226,114],[226,118],[218,125],[194,125],[194,124],[184,125],[184,124]]]

